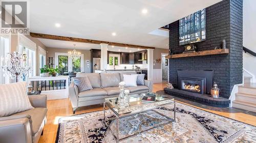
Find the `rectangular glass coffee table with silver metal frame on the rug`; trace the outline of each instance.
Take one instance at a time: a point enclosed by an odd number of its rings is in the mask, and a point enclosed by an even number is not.
[[[150,97],[149,98],[150,101],[147,100],[147,97]],[[153,97],[153,99],[151,99],[151,97]],[[103,122],[105,123],[106,126],[108,126],[111,133],[116,138],[117,142],[119,142],[123,139],[127,139],[129,137],[135,136],[141,132],[152,130],[154,128],[158,128],[158,127],[167,125],[171,122],[175,122],[175,116],[176,116],[176,107],[175,106],[176,105],[175,105],[175,100],[173,98],[169,98],[167,96],[163,96],[163,95],[159,95],[159,94],[155,94],[155,93],[146,93],[146,94],[141,94],[141,95],[140,94],[130,95],[129,101],[130,101],[129,105],[126,105],[125,107],[120,107],[118,105],[118,97],[106,98],[105,102],[103,103],[103,112],[104,112]],[[160,113],[157,110],[154,110],[155,108],[158,108],[160,106],[167,105],[167,104],[174,104],[174,118],[167,117],[167,116],[163,115],[163,113]],[[105,108],[106,107],[109,108],[114,113],[113,118],[108,119],[108,120],[106,120],[106,117],[105,117]],[[142,113],[145,111],[149,112],[150,110],[151,110],[151,112],[154,111],[155,113],[160,115],[161,118],[164,118],[165,122],[162,124],[154,125],[153,127],[145,128],[145,130],[136,131],[134,134],[129,134],[122,138],[119,138],[119,134],[121,132],[119,130],[119,128],[120,128],[119,120],[121,118],[127,118],[127,117],[129,118],[129,116],[134,116],[134,115],[136,116],[136,114],[138,114],[138,113]],[[116,127],[113,127],[113,128],[110,127],[110,122],[112,122],[112,121],[114,121],[113,123],[116,122],[116,124],[115,124]]]

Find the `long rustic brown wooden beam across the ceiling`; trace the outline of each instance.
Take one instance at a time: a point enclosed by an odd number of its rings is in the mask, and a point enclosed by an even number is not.
[[[30,36],[34,38],[51,39],[51,40],[71,41],[71,42],[90,43],[90,44],[104,43],[104,44],[109,44],[110,46],[140,48],[140,49],[155,49],[155,47],[148,47],[148,46],[90,40],[90,39],[82,39],[82,38],[74,38],[74,37],[65,37],[65,36],[57,36],[57,35],[48,35],[48,34],[40,34],[40,33],[32,33],[32,32],[30,33]]]

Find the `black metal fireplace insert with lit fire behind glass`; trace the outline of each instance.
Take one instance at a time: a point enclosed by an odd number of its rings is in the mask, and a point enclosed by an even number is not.
[[[213,71],[178,70],[178,89],[199,94],[210,94],[213,75]]]

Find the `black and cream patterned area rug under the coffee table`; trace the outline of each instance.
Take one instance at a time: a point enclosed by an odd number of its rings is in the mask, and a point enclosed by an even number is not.
[[[181,103],[177,103],[176,108],[175,123],[142,132],[120,142],[256,142],[255,126]],[[173,118],[173,105],[155,110]],[[114,116],[110,110],[107,110],[106,117],[112,119]],[[164,124],[167,120],[153,110],[121,118],[119,138]],[[115,120],[107,123],[110,128],[116,127]],[[96,111],[61,118],[56,142],[116,142],[116,140],[110,129],[103,123],[103,111]]]

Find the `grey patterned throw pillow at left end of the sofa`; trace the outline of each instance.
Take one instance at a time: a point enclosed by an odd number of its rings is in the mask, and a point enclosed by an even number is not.
[[[93,89],[93,87],[90,83],[90,80],[88,79],[87,76],[73,77],[73,80],[74,80],[74,83],[77,86],[79,92]]]

